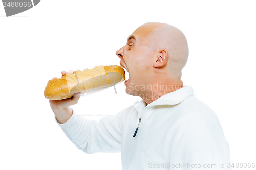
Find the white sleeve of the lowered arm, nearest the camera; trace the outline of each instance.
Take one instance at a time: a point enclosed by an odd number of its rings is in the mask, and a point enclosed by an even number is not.
[[[184,169],[231,169],[229,144],[217,121],[200,112],[184,117],[174,134],[170,162]]]

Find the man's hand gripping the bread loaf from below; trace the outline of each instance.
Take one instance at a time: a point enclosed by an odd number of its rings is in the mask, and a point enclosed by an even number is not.
[[[66,71],[61,71],[62,75],[66,75],[69,73],[73,74],[74,71],[69,70],[67,73]],[[57,77],[54,77],[53,79],[57,79]],[[53,113],[55,114],[58,123],[63,124],[67,122],[67,120],[72,116],[73,112],[70,106],[78,103],[81,93],[82,92],[75,93],[72,98],[68,99],[49,100],[50,106]]]

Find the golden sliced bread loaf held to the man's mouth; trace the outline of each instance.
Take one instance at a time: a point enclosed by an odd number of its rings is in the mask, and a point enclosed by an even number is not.
[[[125,79],[124,70],[117,65],[96,66],[93,69],[75,71],[59,79],[49,80],[45,88],[45,98],[61,100],[71,98],[74,93],[92,93],[119,84]]]

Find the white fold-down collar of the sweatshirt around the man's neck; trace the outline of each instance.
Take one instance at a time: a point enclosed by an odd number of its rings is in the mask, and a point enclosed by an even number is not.
[[[175,90],[173,92],[167,93],[152,103],[146,105],[146,102],[141,99],[134,103],[134,107],[138,112],[142,112],[145,107],[155,106],[155,105],[176,105],[187,99],[189,96],[194,94],[194,90],[191,86],[185,85],[183,88]]]

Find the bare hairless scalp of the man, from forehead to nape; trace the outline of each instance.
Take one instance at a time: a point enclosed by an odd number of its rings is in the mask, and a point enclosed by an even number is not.
[[[188,59],[188,45],[185,35],[176,27],[166,23],[148,22],[134,31],[147,42],[153,51],[166,50],[166,67],[175,79],[181,78],[181,70]]]

